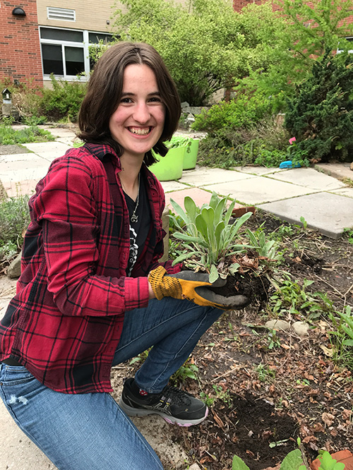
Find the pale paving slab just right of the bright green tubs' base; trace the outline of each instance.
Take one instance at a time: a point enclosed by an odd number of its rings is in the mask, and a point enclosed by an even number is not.
[[[240,171],[225,170],[221,168],[198,168],[185,171],[180,183],[188,183],[192,186],[205,186],[213,183],[223,183],[225,181],[239,181],[255,178],[256,176]],[[212,189],[211,189],[212,191]]]

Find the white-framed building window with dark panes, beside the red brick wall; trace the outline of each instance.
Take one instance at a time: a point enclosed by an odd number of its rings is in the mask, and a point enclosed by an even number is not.
[[[111,42],[112,35],[87,30],[40,27],[40,46],[44,80],[50,75],[66,80],[80,76],[87,80],[92,68],[88,48],[100,42]]]

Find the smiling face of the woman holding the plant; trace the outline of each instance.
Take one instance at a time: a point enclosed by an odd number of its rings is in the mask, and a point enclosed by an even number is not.
[[[115,112],[110,116],[112,138],[124,148],[122,157],[144,157],[162,135],[165,107],[155,73],[146,65],[131,64]]]

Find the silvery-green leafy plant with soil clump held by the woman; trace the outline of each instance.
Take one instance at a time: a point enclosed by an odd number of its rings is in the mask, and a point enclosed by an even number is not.
[[[218,294],[244,294],[249,299],[267,299],[270,284],[275,284],[272,273],[282,255],[277,253],[275,241],[267,241],[263,231],[244,229],[253,215],[246,212],[231,220],[235,201],[227,207],[227,198],[213,193],[209,204],[197,207],[186,196],[184,207],[171,200],[176,215],[172,215],[173,236],[183,243],[182,253],[174,260],[181,261],[194,271],[208,272],[210,282],[218,277],[227,279]],[[232,223],[234,222],[234,223]]]

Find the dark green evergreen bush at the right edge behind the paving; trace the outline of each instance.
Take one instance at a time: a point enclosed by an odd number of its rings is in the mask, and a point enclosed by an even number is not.
[[[313,64],[311,76],[288,102],[285,127],[296,150],[311,162],[345,161],[353,150],[353,58],[332,56]]]

